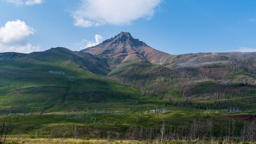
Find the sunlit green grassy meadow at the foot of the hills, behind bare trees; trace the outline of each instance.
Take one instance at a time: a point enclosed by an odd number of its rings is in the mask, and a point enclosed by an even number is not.
[[[160,128],[162,121],[165,121],[165,128],[169,129],[170,127],[181,127],[193,121],[207,121],[207,119],[212,119],[215,125],[219,125],[230,121],[227,115],[246,114],[227,113],[221,110],[191,110],[176,106],[161,106],[160,104],[127,104],[115,108],[105,105],[102,107],[105,110],[93,106],[78,112],[8,116],[11,118],[8,136],[29,137],[37,133],[38,137],[44,138],[59,138],[61,136],[72,138],[74,130],[77,128],[81,138],[87,136],[96,138],[93,133],[101,131],[100,137],[104,139],[108,135],[107,131],[112,131],[112,133],[120,133],[120,138],[124,139],[126,130],[131,125]],[[159,111],[157,112],[157,110]],[[4,116],[0,116],[1,122],[3,119]],[[240,133],[241,125],[243,125],[243,121],[236,119],[236,133]],[[218,128],[215,131],[218,131]],[[52,136],[53,132],[54,136]]]

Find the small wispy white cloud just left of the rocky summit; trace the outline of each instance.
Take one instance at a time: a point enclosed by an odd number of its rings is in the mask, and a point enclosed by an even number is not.
[[[88,47],[96,46],[97,44],[102,43],[103,37],[102,35],[95,35],[94,36],[95,41],[88,41],[88,40],[82,40],[81,43],[77,43],[76,45],[79,46],[79,49],[86,49]]]

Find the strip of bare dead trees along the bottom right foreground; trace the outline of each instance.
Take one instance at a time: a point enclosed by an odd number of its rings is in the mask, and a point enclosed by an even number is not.
[[[192,121],[176,127],[166,127],[165,122],[161,127],[138,127],[130,126],[126,131],[127,140],[224,140],[251,141],[256,140],[255,119],[251,122],[244,122],[242,127],[232,119],[227,122],[217,123],[212,119],[206,121]]]

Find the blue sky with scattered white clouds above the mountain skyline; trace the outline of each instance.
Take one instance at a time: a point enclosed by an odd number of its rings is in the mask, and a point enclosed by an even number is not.
[[[256,51],[256,1],[0,0],[0,52],[81,50],[121,31],[170,54]]]

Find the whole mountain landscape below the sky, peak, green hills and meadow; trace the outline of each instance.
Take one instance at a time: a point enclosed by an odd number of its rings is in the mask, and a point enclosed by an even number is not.
[[[8,139],[252,142],[255,110],[256,52],[171,55],[121,32],[79,52],[0,53]]]

